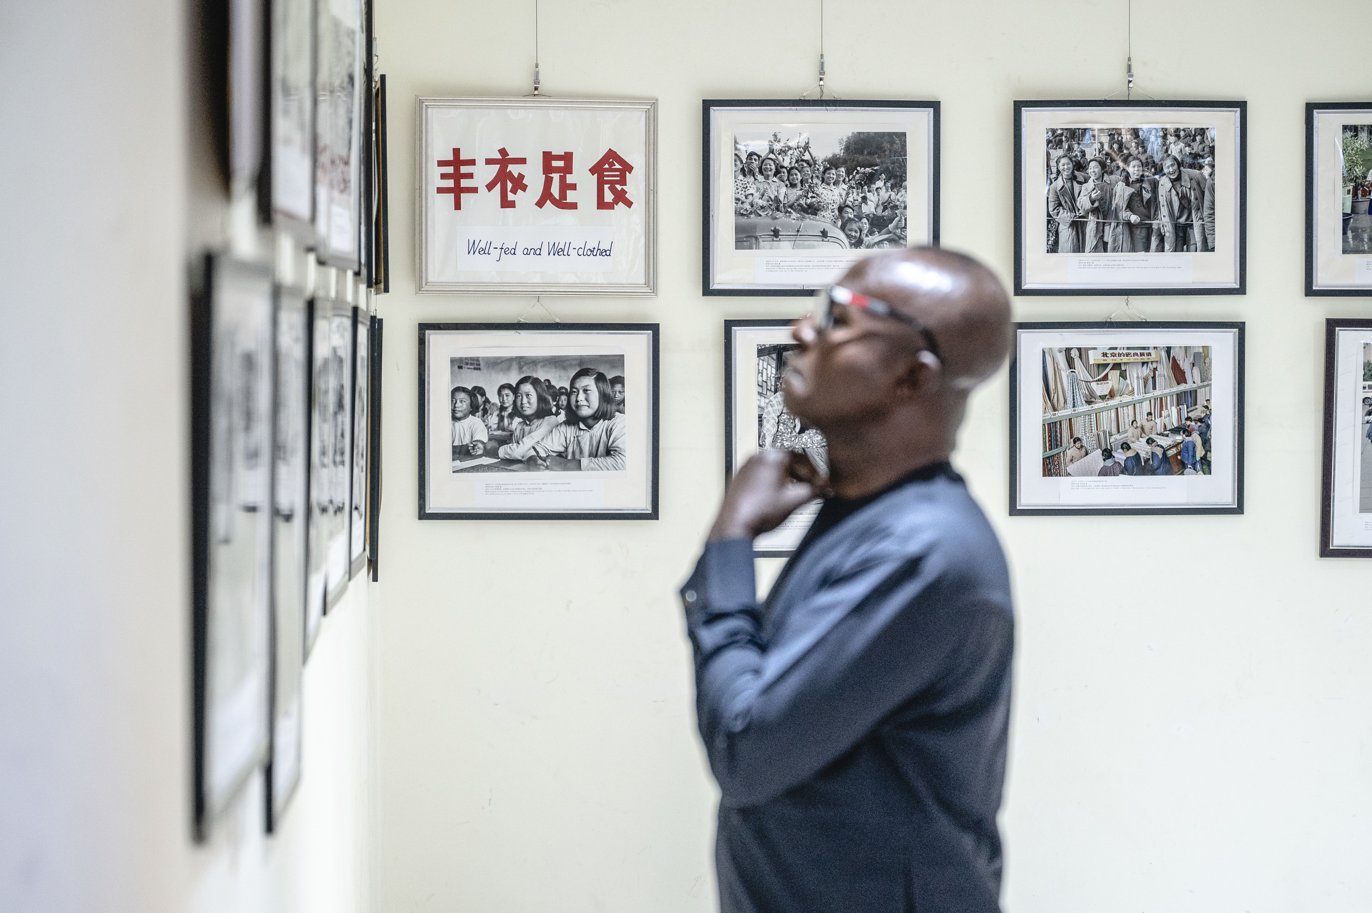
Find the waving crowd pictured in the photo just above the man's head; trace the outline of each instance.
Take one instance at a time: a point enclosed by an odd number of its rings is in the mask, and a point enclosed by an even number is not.
[[[838,229],[849,247],[904,247],[906,211],[904,133],[848,133],[823,157],[808,136],[735,140],[735,225],[749,218],[818,221]]]

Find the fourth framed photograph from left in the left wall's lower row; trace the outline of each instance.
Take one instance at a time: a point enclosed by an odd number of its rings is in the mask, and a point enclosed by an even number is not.
[[[338,280],[351,281],[343,273]],[[353,305],[339,298],[329,299],[329,390],[325,408],[329,411],[328,442],[328,498],[329,524],[324,610],[328,611],[347,589],[348,530],[353,508],[348,494],[353,486]]]

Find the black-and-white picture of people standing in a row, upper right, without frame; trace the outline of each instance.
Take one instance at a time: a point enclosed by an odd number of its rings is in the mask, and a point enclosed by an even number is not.
[[[1214,130],[1047,130],[1050,254],[1216,250]]]

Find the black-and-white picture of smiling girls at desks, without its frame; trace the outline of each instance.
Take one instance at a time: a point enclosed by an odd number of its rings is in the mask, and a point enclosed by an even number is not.
[[[624,357],[450,358],[451,472],[624,472]]]

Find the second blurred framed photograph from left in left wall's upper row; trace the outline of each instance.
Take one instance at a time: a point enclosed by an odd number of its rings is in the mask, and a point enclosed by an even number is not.
[[[324,0],[320,0],[324,1]],[[317,29],[314,26],[314,0],[272,0],[266,15],[268,23],[268,77],[266,77],[266,151],[262,157],[262,172],[258,183],[258,216],[262,222],[287,232],[300,243],[314,244],[314,51]],[[303,48],[302,48],[303,45]],[[300,51],[303,49],[303,60]],[[303,76],[303,80],[300,78]],[[300,97],[289,100],[288,86],[303,88]],[[285,194],[284,174],[289,170],[285,159],[287,122],[296,113],[305,121],[303,141],[306,148],[305,200],[300,207],[289,207],[283,199]],[[299,167],[299,162],[294,163]],[[296,176],[298,177],[298,176]]]

